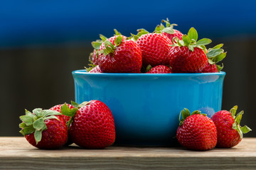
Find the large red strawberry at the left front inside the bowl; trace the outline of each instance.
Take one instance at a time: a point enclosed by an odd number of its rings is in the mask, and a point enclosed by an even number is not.
[[[142,52],[133,40],[115,35],[100,46],[98,64],[102,72],[138,73],[142,67]]]

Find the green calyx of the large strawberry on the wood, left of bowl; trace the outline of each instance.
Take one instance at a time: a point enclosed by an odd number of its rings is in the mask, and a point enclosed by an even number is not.
[[[88,104],[90,104],[90,101],[84,101],[80,104],[76,103],[75,101],[71,101],[71,105],[74,106],[74,108],[69,108],[67,103],[64,103],[63,106],[61,106],[60,108],[61,113],[63,115],[67,115],[70,117],[70,120],[67,123],[68,129],[70,128],[70,124],[73,122],[73,117],[75,113],[77,113],[78,109]]]

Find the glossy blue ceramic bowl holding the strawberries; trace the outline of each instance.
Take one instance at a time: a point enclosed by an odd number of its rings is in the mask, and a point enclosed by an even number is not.
[[[220,111],[225,72],[115,74],[73,72],[75,101],[100,100],[114,116],[117,145],[173,143],[183,108]]]

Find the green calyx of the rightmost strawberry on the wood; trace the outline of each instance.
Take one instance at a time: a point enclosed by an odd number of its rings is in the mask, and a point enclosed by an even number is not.
[[[240,126],[240,121],[242,119],[242,115],[243,115],[244,111],[240,111],[240,113],[235,115],[237,110],[238,110],[238,106],[234,106],[233,108],[230,109],[230,113],[235,120],[235,123],[233,123],[232,128],[234,130],[238,131],[238,134],[240,135],[240,139],[242,139],[242,134],[250,132],[251,129],[249,127],[247,127],[247,125],[244,125],[243,127]]]

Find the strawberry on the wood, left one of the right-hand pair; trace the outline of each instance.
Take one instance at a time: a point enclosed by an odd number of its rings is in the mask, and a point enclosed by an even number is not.
[[[217,143],[217,130],[213,121],[200,111],[190,113],[184,108],[181,114],[176,132],[178,142],[187,149],[213,149]]]

